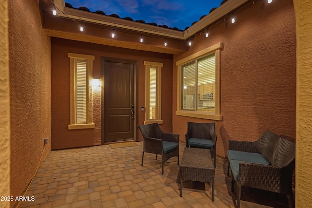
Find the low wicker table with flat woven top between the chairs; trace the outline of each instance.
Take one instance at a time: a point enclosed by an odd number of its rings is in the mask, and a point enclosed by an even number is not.
[[[215,201],[215,165],[209,149],[184,149],[180,163],[180,196],[182,180],[212,183],[212,201]]]

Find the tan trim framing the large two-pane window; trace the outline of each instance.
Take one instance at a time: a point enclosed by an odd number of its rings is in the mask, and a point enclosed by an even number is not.
[[[221,99],[220,99],[220,62],[221,62],[221,49],[223,48],[223,43],[219,42],[213,46],[210,46],[202,51],[199,51],[195,54],[192,54],[189,57],[185,57],[176,62],[177,65],[177,107],[176,107],[176,115],[195,117],[195,118],[203,118],[210,120],[222,120],[221,115]],[[206,113],[206,112],[190,112],[181,109],[181,67],[199,57],[209,55],[215,53],[215,112],[214,113]]]

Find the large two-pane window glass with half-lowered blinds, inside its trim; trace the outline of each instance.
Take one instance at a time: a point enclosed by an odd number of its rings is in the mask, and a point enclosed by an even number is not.
[[[215,112],[215,53],[182,66],[182,110]]]

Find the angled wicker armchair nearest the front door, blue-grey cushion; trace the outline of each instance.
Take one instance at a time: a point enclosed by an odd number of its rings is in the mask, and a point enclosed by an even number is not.
[[[138,125],[143,137],[143,152],[160,154],[161,157],[161,174],[164,174],[164,163],[171,157],[177,157],[177,164],[179,165],[179,135],[173,133],[163,132],[158,123],[148,125]]]

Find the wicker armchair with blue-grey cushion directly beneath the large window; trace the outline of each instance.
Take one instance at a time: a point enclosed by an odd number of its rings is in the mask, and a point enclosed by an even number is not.
[[[185,134],[186,147],[211,149],[214,162],[216,139],[215,123],[187,122],[187,132]]]

